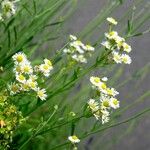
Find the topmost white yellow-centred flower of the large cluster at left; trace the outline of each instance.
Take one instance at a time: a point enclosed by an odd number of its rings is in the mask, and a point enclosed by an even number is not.
[[[16,53],[12,58],[15,61],[15,64],[25,63],[27,61],[26,55],[21,52]]]

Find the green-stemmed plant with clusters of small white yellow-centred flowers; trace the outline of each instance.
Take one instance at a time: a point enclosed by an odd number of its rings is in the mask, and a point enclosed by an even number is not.
[[[128,42],[149,32],[138,31],[147,20],[134,25],[142,15],[134,16],[134,6],[125,18],[127,27],[115,29],[121,21],[109,17],[110,12],[123,1],[112,0],[82,32],[62,35],[76,3],[0,1],[0,149],[83,149],[84,138],[92,139],[95,133],[150,111],[120,121],[127,109],[140,102],[126,106],[122,100],[129,96],[122,98],[120,87],[134,75],[140,84],[149,64],[124,82],[118,80],[123,67],[130,68],[135,61],[129,56],[135,48]],[[99,29],[102,23],[105,31]],[[101,35],[94,40],[97,30]]]

